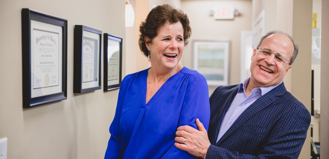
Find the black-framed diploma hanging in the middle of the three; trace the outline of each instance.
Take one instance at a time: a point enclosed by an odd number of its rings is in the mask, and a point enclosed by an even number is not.
[[[101,89],[101,39],[102,31],[75,25],[73,93]]]

